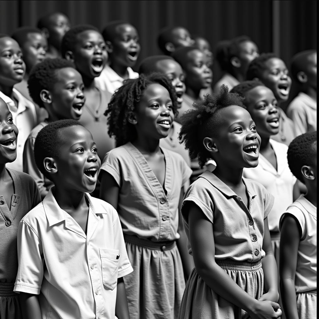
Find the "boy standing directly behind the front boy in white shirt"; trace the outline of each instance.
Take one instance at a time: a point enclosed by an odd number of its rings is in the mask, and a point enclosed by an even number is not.
[[[43,199],[53,182],[36,166],[33,155],[35,137],[48,123],[65,118],[80,119],[85,103],[84,85],[81,74],[74,69],[72,62],[48,58],[34,66],[28,79],[28,88],[33,101],[48,113],[48,118],[31,131],[23,150],[23,171],[36,181]]]

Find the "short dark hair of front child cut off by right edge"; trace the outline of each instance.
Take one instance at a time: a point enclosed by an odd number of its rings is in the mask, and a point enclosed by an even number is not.
[[[317,156],[317,131],[301,134],[293,139],[288,146],[288,165],[293,175],[302,183],[304,177],[301,167],[314,165]]]

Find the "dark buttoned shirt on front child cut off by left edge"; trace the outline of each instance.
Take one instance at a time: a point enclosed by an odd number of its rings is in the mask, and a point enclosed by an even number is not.
[[[41,198],[28,174],[7,168],[13,182],[11,203],[0,193],[0,282],[13,283],[18,271],[17,234],[19,222]]]

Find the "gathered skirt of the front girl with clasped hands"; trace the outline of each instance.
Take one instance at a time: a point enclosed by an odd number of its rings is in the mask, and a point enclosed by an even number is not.
[[[250,296],[259,299],[263,294],[263,269],[256,263],[216,261],[230,278]],[[194,268],[186,284],[179,319],[241,319],[249,318],[246,311],[215,293]]]

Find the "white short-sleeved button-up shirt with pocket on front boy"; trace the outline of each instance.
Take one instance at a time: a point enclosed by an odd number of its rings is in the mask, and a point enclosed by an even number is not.
[[[52,189],[20,222],[14,291],[39,294],[43,319],[113,319],[117,278],[133,271],[117,213],[85,193],[85,234]]]

